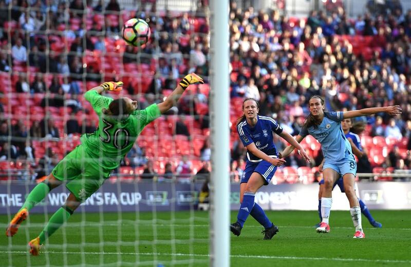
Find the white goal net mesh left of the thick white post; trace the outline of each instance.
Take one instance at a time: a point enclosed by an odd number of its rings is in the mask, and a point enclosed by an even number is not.
[[[136,99],[144,109],[170,95],[186,73],[208,76],[204,3],[46,3],[0,2],[3,229],[80,136],[96,130],[87,90],[121,80],[122,92],[105,95]],[[151,26],[144,49],[120,37],[132,17]],[[197,212],[199,204],[207,209],[208,174],[196,175],[209,169],[208,92],[207,83],[191,86],[176,108],[147,125],[121,166],[32,257],[27,243],[70,193],[64,184],[50,191],[18,234],[0,241],[4,264],[208,265],[208,214]]]

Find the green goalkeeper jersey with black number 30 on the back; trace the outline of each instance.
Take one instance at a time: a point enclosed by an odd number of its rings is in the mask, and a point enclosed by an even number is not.
[[[84,96],[99,115],[99,127],[94,133],[83,134],[81,142],[91,156],[99,159],[101,167],[116,169],[143,128],[161,115],[160,110],[153,104],[119,119],[101,112],[102,108],[108,108],[112,98],[102,96],[95,90],[87,91]]]

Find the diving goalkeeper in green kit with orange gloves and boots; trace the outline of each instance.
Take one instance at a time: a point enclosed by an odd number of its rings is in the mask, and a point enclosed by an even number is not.
[[[94,133],[83,134],[81,145],[67,154],[44,182],[33,188],[23,207],[9,223],[6,235],[15,235],[30,209],[42,201],[50,190],[66,182],[70,194],[65,204],[51,216],[40,235],[29,242],[30,253],[39,255],[40,245],[101,187],[111,171],[119,167],[121,159],[133,147],[144,126],[172,108],[184,90],[195,83],[204,82],[195,73],[186,75],[163,102],[144,110],[137,110],[137,101],[130,98],[113,100],[101,95],[107,90],[120,91],[123,85],[121,81],[110,81],[87,91],[84,96],[99,115],[98,129]]]

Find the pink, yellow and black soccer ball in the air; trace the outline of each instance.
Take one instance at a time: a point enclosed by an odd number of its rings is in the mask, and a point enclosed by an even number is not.
[[[150,38],[150,27],[141,18],[128,19],[124,24],[121,34],[125,42],[132,46],[141,47]]]

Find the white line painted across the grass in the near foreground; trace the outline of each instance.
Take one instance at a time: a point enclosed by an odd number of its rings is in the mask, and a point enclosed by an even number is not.
[[[27,254],[27,251],[0,251],[0,253]],[[185,253],[134,253],[134,252],[62,252],[45,251],[44,254],[88,254],[88,255],[142,255],[142,256],[181,256],[181,257],[210,257],[210,254],[185,254]],[[352,258],[319,258],[319,257],[294,257],[294,256],[264,256],[264,255],[230,255],[231,258],[258,258],[258,259],[286,259],[286,260],[331,260],[331,261],[362,261],[382,263],[411,263],[411,260],[379,260],[379,259],[352,259]]]

